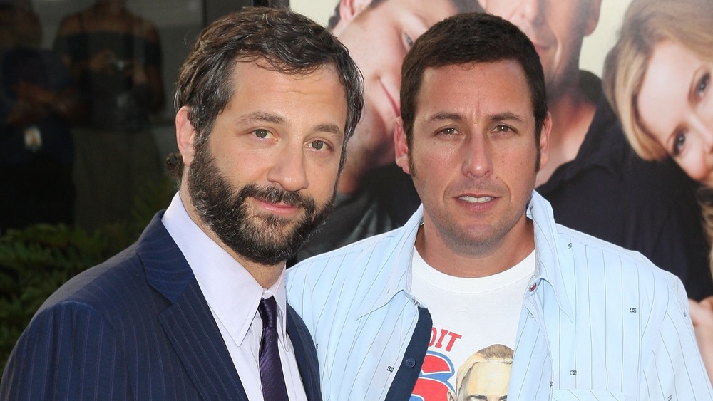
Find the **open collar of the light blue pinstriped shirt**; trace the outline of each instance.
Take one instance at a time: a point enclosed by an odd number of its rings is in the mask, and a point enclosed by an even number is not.
[[[550,217],[553,215],[552,207],[540,194],[533,191],[527,214],[534,222],[535,254],[537,256],[535,275],[530,283],[530,288],[533,288],[534,285],[536,289],[542,281],[548,283],[553,288],[555,299],[560,309],[567,316],[573,318],[573,306],[570,303],[560,271],[560,264],[568,264],[572,263],[572,261],[568,259],[566,252],[561,250],[558,252],[560,244],[558,243],[556,226],[550,221]],[[388,254],[386,258],[376,258],[379,261],[379,266],[376,266],[375,285],[371,286],[369,293],[365,296],[365,299],[373,299],[374,302],[362,304],[357,310],[357,319],[386,305],[400,291],[404,291],[417,305],[424,306],[410,293],[411,256],[414,253],[416,234],[418,234],[419,226],[423,220],[424,206],[421,205],[403,227],[382,234],[384,236],[393,235],[399,237],[399,241],[391,242],[389,249],[381,251]],[[566,244],[564,246],[566,247]],[[368,258],[369,256],[359,255],[357,257]],[[565,258],[568,260],[563,260]],[[371,263],[373,262],[368,262],[368,264]],[[366,270],[372,271],[368,268]],[[527,291],[525,297],[532,296],[534,293],[535,291]]]

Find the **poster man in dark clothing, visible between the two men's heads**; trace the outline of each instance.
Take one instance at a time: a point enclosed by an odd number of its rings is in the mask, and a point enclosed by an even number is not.
[[[364,118],[356,125],[334,209],[297,261],[402,226],[419,207],[394,163],[401,63],[431,25],[478,11],[478,0],[340,0],[329,28],[364,73]]]

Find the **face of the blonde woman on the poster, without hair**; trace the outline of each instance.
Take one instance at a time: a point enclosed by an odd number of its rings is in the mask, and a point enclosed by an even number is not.
[[[691,177],[713,187],[713,63],[657,43],[637,98],[640,123]]]

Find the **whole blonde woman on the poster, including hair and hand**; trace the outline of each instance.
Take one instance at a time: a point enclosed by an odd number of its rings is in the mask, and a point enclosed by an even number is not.
[[[632,1],[604,71],[605,93],[637,154],[645,160],[674,161],[703,185],[697,194],[709,241],[713,239],[712,73],[712,0]],[[705,272],[698,279],[710,276]],[[713,297],[690,301],[690,307],[713,380]]]

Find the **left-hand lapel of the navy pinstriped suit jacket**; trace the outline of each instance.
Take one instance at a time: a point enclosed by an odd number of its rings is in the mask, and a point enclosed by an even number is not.
[[[172,304],[159,314],[178,358],[205,400],[247,400],[193,271],[157,214],[139,239],[148,283]]]

